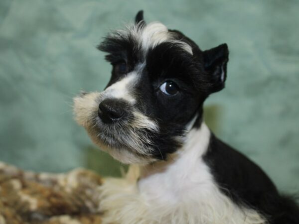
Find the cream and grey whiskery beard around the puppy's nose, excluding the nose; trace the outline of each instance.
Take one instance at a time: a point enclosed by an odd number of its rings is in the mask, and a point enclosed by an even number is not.
[[[74,98],[75,120],[85,127],[96,145],[115,159],[126,164],[155,161],[150,136],[158,131],[157,124],[134,108],[126,121],[105,124],[98,117],[99,104],[105,98],[105,91]]]

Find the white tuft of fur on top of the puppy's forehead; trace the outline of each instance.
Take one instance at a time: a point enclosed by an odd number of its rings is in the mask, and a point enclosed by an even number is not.
[[[130,24],[126,26],[126,29],[117,30],[116,33],[122,37],[132,36],[137,40],[139,47],[145,52],[147,52],[149,48],[153,48],[162,42],[170,42],[177,44],[183,50],[193,55],[191,46],[183,41],[176,40],[174,35],[168,31],[167,27],[160,22],[151,22],[145,26],[141,23]]]

